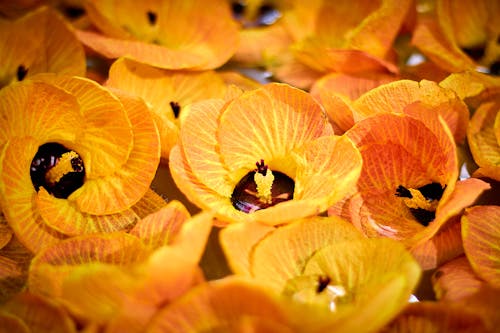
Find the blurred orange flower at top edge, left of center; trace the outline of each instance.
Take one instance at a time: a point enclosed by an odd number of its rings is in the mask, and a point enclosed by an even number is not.
[[[126,56],[167,69],[213,69],[238,45],[238,30],[225,0],[86,1],[102,32],[80,30],[78,38],[108,57]]]

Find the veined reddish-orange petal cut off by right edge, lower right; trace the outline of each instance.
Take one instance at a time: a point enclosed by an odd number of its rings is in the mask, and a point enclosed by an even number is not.
[[[464,248],[474,271],[500,287],[500,207],[476,206],[462,217]]]

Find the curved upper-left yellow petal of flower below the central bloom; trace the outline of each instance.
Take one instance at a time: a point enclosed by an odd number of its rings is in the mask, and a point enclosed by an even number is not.
[[[278,292],[288,279],[301,275],[305,262],[318,249],[362,235],[338,217],[314,217],[269,233],[250,253],[250,272]]]

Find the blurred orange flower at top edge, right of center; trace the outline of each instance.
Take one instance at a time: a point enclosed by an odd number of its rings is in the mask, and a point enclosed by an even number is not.
[[[391,48],[412,1],[313,3],[314,28],[291,46],[292,56],[276,61],[277,78],[306,88],[331,72],[398,72]]]

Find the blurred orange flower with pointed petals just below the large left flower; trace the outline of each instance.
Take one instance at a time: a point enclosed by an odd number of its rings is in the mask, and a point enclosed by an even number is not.
[[[87,324],[142,332],[160,306],[203,280],[198,262],[212,216],[189,218],[179,202],[123,232],[77,236],[41,251],[29,290],[51,297]]]

